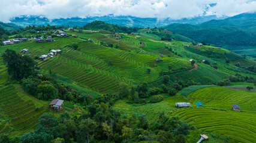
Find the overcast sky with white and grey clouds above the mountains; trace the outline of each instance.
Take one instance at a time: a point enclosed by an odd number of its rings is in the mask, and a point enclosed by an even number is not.
[[[20,15],[71,18],[113,15],[192,18],[198,15],[233,16],[256,10],[256,0],[0,0],[0,21]]]

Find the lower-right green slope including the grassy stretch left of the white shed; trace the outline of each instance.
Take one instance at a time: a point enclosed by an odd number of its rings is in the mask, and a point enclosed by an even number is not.
[[[162,111],[167,115],[179,115],[189,125],[201,130],[192,131],[188,135],[189,142],[197,141],[198,134],[203,133],[210,137],[207,142],[221,142],[216,141],[215,139],[220,138],[212,136],[211,133],[228,136],[231,142],[254,142],[256,92],[233,91],[218,86],[189,86],[185,92],[192,93],[188,98],[181,95],[165,96],[164,101],[155,104],[128,104],[127,100],[119,100],[114,107],[128,116],[134,113],[145,114],[149,123],[156,120]],[[203,102],[204,108],[196,108],[195,101]],[[175,102],[190,102],[192,107],[178,109]],[[232,111],[232,104],[240,105],[242,111]]]

